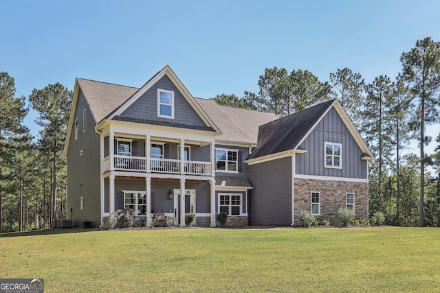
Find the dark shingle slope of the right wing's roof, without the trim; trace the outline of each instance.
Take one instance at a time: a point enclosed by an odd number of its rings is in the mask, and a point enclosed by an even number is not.
[[[334,101],[332,99],[260,126],[258,145],[248,159],[296,148]]]

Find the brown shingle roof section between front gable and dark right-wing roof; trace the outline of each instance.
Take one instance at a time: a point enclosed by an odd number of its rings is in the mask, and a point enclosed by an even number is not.
[[[196,99],[221,131],[221,135],[216,138],[217,142],[256,143],[258,141],[259,126],[278,119],[272,113],[222,106],[212,99]]]

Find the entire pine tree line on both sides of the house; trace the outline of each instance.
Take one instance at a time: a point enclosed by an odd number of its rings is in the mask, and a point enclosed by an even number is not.
[[[348,68],[330,73],[329,82],[307,70],[267,68],[259,93],[212,99],[283,117],[338,98],[376,155],[369,169],[370,214],[382,211],[388,224],[440,226],[440,146],[424,152],[431,141],[426,126],[440,121],[440,43],[417,40],[400,60],[395,80],[380,75],[371,84]],[[14,78],[0,72],[0,233],[48,228],[67,217],[62,150],[72,91],[58,82],[34,89],[27,98],[15,91]],[[35,123],[42,130],[36,140],[23,124],[26,99],[39,113]],[[402,154],[411,139],[419,141],[419,155]],[[426,165],[436,174],[426,173]]]

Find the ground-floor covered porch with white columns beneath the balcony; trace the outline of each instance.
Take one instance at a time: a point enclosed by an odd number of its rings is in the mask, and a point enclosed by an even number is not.
[[[207,179],[109,175],[102,179],[102,216],[133,209],[137,223],[146,227],[151,226],[152,213],[163,213],[174,218],[175,226],[185,226],[185,214],[195,213],[193,224],[215,226],[215,182]]]

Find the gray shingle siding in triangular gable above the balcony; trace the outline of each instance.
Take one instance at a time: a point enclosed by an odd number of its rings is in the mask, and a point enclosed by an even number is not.
[[[157,89],[174,92],[174,119],[157,117]],[[206,126],[197,112],[190,106],[184,95],[173,84],[168,76],[162,77],[137,99],[121,116],[137,119],[166,121],[190,126]]]

